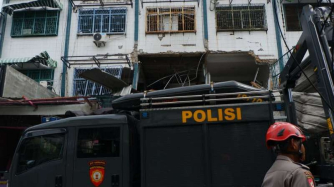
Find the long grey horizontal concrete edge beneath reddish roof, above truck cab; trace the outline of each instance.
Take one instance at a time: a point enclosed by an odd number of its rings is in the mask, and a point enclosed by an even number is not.
[[[66,105],[38,105],[33,106],[0,106],[0,115],[64,115],[67,110],[81,110],[90,113],[97,109],[98,104],[66,104]]]

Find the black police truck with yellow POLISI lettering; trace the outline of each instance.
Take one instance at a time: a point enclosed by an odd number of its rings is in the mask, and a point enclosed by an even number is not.
[[[115,106],[136,110],[142,96]],[[275,159],[265,134],[273,112],[284,110],[272,91],[229,81],[152,91],[141,100],[139,116],[78,116],[26,129],[9,186],[261,185]]]

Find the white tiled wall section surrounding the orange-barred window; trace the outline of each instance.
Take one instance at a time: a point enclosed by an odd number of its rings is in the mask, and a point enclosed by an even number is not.
[[[195,6],[196,32],[186,33],[145,33],[146,8]],[[143,3],[139,7],[139,53],[196,52],[205,51],[203,40],[202,2],[159,2]]]

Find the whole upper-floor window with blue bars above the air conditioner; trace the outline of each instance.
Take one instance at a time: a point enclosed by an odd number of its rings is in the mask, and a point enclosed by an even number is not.
[[[79,9],[78,33],[123,34],[126,17],[126,7]]]

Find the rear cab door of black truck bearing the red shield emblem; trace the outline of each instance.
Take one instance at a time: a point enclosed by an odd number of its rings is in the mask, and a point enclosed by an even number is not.
[[[73,186],[122,186],[122,126],[76,127]]]

